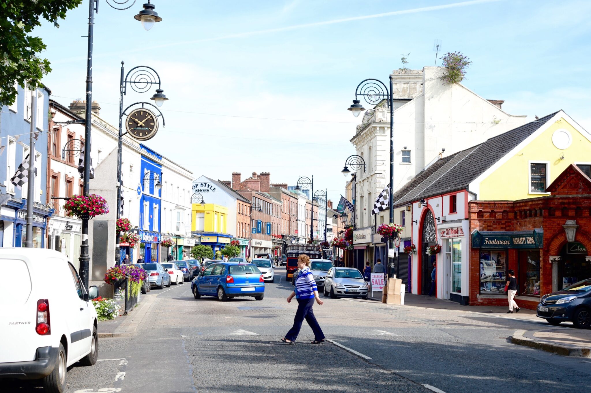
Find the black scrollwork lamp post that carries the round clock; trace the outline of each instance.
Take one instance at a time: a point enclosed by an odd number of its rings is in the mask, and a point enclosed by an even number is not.
[[[138,65],[137,67],[132,68],[125,74],[124,68],[125,62],[121,62],[121,73],[119,76],[119,136],[118,136],[118,145],[117,145],[117,219],[121,218],[121,183],[122,183],[122,153],[123,153],[123,137],[127,134],[123,132],[123,115],[126,114],[126,111],[131,108],[135,107],[135,105],[141,105],[144,108],[145,105],[151,105],[158,111],[157,117],[162,117],[162,125],[165,125],[164,115],[158,109],[164,101],[168,100],[164,95],[164,90],[161,89],[160,85],[160,75],[158,72],[154,70],[152,67],[148,67],[147,65]],[[125,77],[124,77],[125,74]],[[157,85],[156,93],[152,95],[150,98],[154,100],[155,104],[158,107],[154,106],[150,103],[134,103],[129,105],[125,110],[123,109],[123,96],[127,95],[127,87],[131,87],[133,91],[136,93],[145,93],[150,90],[152,85]],[[145,180],[145,175],[144,175]],[[154,183],[151,183],[154,184]],[[160,191],[162,189],[162,183],[160,183],[160,179],[158,179],[158,183],[155,184],[156,191]],[[119,260],[119,231],[115,230],[115,261]]]

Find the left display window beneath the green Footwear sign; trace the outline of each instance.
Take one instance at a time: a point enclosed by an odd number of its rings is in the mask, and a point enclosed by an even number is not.
[[[480,293],[504,295],[506,269],[505,250],[480,250]]]

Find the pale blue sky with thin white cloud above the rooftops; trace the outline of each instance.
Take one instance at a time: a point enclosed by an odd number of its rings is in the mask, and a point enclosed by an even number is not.
[[[361,119],[346,110],[356,85],[387,81],[408,52],[409,68],[434,65],[434,39],[443,52],[467,55],[463,84],[505,100],[509,113],[563,109],[591,129],[589,1],[152,3],[163,21],[144,31],[133,19],[142,1],[116,11],[100,0],[93,99],[117,124],[121,61],[155,68],[170,100],[166,127],[147,144],[196,178],[269,171],[272,182],[294,184],[313,174],[337,200]],[[44,82],[62,104],[85,94],[87,10],[85,0],[59,29],[37,29],[53,67]],[[128,94],[124,103],[150,96]]]

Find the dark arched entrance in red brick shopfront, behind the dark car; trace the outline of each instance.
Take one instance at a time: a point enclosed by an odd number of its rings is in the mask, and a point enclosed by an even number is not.
[[[582,243],[566,243],[560,252],[558,264],[558,290],[576,282],[591,278],[591,262],[586,260],[589,251]]]

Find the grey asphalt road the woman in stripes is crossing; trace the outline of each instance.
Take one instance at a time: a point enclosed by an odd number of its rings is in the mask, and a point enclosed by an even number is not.
[[[100,361],[70,368],[67,391],[591,391],[591,360],[511,344],[514,331],[542,322],[499,314],[323,298],[314,313],[327,338],[361,356],[309,344],[306,323],[296,345],[282,344],[296,310],[284,271],[261,301],[196,300],[189,283],[152,290],[135,336],[100,339]],[[33,389],[43,391],[31,382],[3,391]]]

